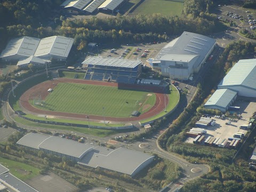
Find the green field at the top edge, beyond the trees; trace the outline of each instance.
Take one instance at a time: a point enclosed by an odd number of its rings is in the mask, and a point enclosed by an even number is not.
[[[133,13],[153,14],[161,13],[165,16],[181,15],[184,3],[166,0],[146,0]]]

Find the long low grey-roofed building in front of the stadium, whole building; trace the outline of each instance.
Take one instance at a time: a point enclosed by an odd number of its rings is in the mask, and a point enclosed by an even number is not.
[[[100,167],[110,171],[134,176],[151,162],[154,156],[126,148],[109,149],[93,143],[79,143],[77,141],[49,137],[42,134],[28,133],[22,137],[18,145],[45,153],[66,157],[75,163]]]

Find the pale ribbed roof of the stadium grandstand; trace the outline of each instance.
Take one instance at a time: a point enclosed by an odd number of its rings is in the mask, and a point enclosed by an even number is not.
[[[83,64],[98,65],[98,66],[134,68],[134,67],[140,65],[141,60],[90,57],[90,58],[86,59],[85,61],[83,61],[82,63]]]

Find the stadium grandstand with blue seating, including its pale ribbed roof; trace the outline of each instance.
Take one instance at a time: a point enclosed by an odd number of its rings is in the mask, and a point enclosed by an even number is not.
[[[83,62],[83,68],[87,68],[86,80],[133,84],[141,73],[141,61],[90,57]]]

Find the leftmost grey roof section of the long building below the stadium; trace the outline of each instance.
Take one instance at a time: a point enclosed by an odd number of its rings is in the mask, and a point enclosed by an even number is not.
[[[28,133],[25,136],[23,136],[17,144],[23,145],[26,147],[31,147],[34,149],[39,149],[39,145],[44,142],[49,136],[42,135],[42,134],[36,134],[36,133]]]

